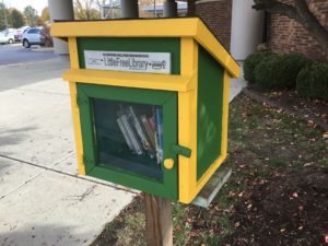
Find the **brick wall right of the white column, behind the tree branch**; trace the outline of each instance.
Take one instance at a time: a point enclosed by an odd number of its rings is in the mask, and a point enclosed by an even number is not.
[[[284,0],[291,3],[291,0]],[[309,8],[318,17],[320,23],[328,28],[328,1],[311,0]],[[307,57],[316,60],[325,60],[325,54],[318,43],[297,22],[271,14],[268,22],[269,44],[271,48],[283,52],[303,52]]]

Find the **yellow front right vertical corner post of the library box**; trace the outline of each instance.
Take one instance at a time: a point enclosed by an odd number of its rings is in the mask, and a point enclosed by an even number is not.
[[[178,143],[192,150],[190,157],[178,156],[179,201],[190,203],[197,195],[197,90],[198,44],[191,37],[181,38],[181,75],[197,74],[194,90],[178,93]]]

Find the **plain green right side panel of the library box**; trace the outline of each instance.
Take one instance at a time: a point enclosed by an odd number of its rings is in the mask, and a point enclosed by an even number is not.
[[[199,46],[197,179],[221,155],[223,67]]]

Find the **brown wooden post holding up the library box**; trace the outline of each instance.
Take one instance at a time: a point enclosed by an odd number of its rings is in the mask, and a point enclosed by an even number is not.
[[[145,194],[145,233],[149,246],[172,246],[171,201]]]

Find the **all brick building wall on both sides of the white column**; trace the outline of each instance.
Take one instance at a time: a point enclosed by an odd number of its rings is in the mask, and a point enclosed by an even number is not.
[[[241,0],[243,1],[243,0]],[[292,3],[293,0],[281,0]],[[309,8],[320,23],[328,28],[328,0],[309,0]],[[232,0],[216,0],[197,3],[199,15],[212,33],[230,49]],[[282,52],[302,52],[316,60],[328,59],[317,42],[297,22],[278,14],[270,14],[268,20],[268,42],[273,50]]]

